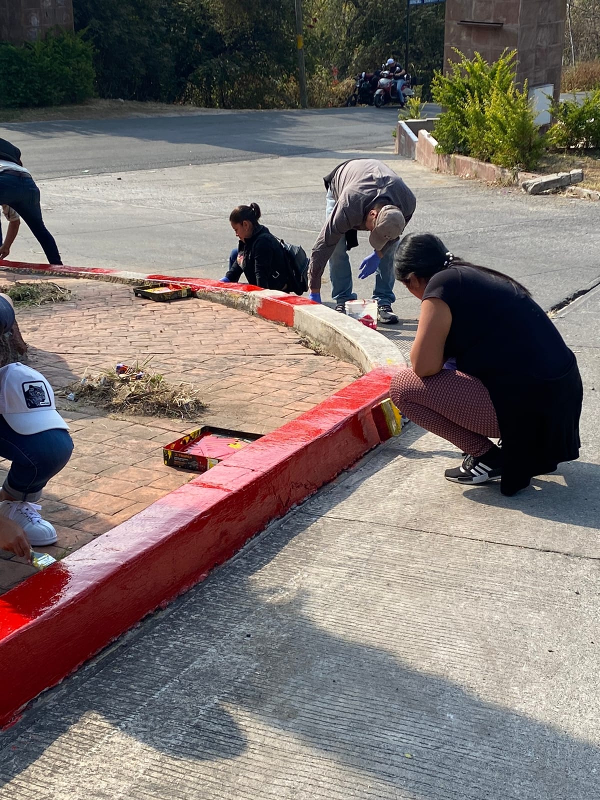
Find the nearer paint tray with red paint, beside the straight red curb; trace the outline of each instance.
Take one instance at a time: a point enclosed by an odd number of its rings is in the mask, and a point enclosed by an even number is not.
[[[260,434],[206,425],[163,447],[162,459],[166,466],[206,472],[259,438]]]

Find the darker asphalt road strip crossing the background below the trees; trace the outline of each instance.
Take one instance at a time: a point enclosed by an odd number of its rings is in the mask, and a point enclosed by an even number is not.
[[[190,116],[12,123],[36,180],[389,145],[398,108],[204,111]]]

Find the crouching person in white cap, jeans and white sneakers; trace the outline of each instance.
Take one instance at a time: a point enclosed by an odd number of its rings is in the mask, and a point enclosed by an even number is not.
[[[70,459],[68,430],[41,373],[19,362],[0,369],[0,457],[11,462],[0,490],[0,530],[16,523],[32,546],[56,542],[56,530],[40,516],[37,501]],[[0,535],[0,546],[2,541]]]

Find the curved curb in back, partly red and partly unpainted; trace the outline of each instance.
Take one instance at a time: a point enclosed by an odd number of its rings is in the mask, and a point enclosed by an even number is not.
[[[0,269],[67,278],[97,278],[122,283],[166,280],[178,286],[190,286],[198,298],[222,303],[248,314],[279,322],[326,348],[330,354],[369,372],[379,366],[406,366],[397,347],[376,330],[370,330],[355,319],[338,314],[295,294],[259,289],[242,283],[221,283],[205,278],[174,278],[171,275],[142,274],[122,270],[50,266],[0,260]]]

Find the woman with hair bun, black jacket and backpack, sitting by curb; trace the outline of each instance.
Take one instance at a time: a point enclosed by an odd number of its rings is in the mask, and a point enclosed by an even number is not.
[[[229,257],[229,270],[224,283],[237,283],[246,276],[246,281],[261,289],[278,289],[285,292],[290,283],[290,266],[282,243],[258,220],[261,210],[258,203],[238,206],[230,214],[229,221],[239,239],[237,250]]]

